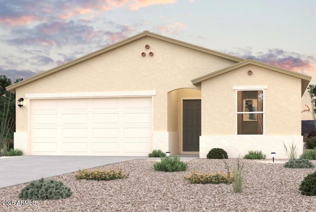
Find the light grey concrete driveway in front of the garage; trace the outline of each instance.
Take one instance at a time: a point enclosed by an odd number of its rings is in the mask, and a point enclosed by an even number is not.
[[[53,177],[97,166],[146,157],[133,156],[38,156],[0,157],[0,188],[41,177]]]

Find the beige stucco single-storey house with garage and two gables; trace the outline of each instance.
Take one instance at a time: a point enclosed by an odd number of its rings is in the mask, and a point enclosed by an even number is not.
[[[303,151],[310,76],[145,31],[7,87],[14,147],[34,155],[206,157]]]

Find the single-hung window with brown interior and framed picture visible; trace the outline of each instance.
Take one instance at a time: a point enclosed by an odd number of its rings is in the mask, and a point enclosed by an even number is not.
[[[263,135],[263,90],[237,91],[237,135]]]

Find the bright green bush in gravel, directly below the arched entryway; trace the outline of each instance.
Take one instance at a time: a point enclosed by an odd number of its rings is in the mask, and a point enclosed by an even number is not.
[[[162,157],[160,162],[154,163],[155,171],[182,172],[187,170],[188,164],[181,161],[177,156]]]

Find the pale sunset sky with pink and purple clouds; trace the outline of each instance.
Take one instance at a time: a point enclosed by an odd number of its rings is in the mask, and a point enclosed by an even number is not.
[[[0,0],[0,75],[27,79],[145,30],[316,84],[315,0]]]

